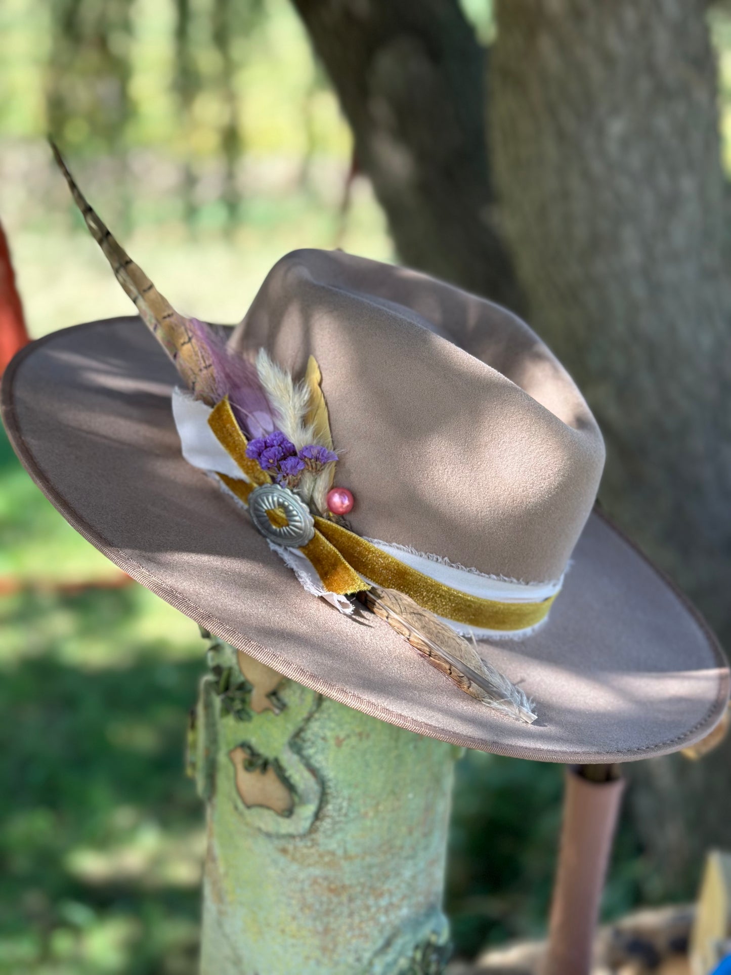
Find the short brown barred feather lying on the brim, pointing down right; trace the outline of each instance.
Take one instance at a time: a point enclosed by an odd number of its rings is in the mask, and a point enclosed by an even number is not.
[[[373,586],[358,598],[466,693],[511,718],[528,724],[536,720],[524,691],[482,660],[474,643],[456,634],[433,612],[396,589]]]

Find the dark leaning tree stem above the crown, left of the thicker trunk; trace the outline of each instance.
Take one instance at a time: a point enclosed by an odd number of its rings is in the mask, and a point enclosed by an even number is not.
[[[293,0],[406,264],[519,310],[494,226],[485,52],[457,0]]]

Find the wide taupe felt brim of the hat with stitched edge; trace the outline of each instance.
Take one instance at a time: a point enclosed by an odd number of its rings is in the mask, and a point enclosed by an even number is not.
[[[242,512],[180,454],[176,373],[139,319],[53,332],[3,378],[14,448],[63,517],[220,639],[327,697],[455,745],[522,759],[634,761],[708,734],[729,670],[669,582],[593,514],[547,624],[481,653],[533,697],[496,715],[383,621],[305,593]]]

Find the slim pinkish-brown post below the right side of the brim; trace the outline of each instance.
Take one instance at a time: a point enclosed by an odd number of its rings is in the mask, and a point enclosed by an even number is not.
[[[566,769],[563,825],[541,975],[589,975],[624,779],[619,765]]]

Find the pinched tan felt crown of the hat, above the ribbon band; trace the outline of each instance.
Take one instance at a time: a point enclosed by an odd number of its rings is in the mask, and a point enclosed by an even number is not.
[[[604,447],[568,373],[518,318],[342,253],[290,254],[232,346],[323,373],[338,482],[361,534],[487,574],[558,579]]]

